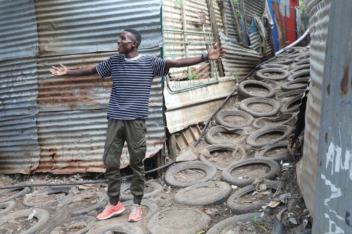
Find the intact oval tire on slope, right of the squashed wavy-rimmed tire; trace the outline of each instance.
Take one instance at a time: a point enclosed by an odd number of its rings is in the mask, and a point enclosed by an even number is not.
[[[266,134],[269,133],[275,133],[275,132],[281,132],[283,133],[283,136],[275,138],[273,140],[269,140],[266,142],[262,142],[259,143],[256,140],[261,137],[264,136]],[[292,132],[292,128],[288,125],[284,125],[284,124],[276,124],[276,125],[270,125],[270,126],[266,126],[264,128],[258,129],[257,131],[251,133],[247,139],[246,139],[246,143],[248,145],[251,145],[253,148],[262,148],[265,145],[268,144],[272,144],[281,140],[286,140],[288,135]]]

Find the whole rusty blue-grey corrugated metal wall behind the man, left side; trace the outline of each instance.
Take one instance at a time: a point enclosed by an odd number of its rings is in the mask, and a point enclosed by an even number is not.
[[[0,39],[0,173],[103,172],[111,79],[59,78],[48,70],[60,62],[76,69],[108,59],[125,28],[141,32],[140,54],[158,56],[160,2],[0,3],[0,32],[5,35]],[[154,78],[147,157],[155,155],[165,139],[161,86],[161,78]],[[128,163],[124,148],[121,167]]]

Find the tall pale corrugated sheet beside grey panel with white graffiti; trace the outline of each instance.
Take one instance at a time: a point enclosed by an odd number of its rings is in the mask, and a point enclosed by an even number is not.
[[[319,2],[310,11],[310,77],[306,109],[303,157],[297,164],[297,180],[310,214],[314,214],[316,166],[319,146],[319,123],[330,0]]]

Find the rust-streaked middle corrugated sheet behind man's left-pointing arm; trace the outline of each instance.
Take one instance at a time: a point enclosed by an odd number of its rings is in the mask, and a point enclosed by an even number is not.
[[[141,55],[159,56],[159,48],[140,50]],[[40,111],[92,110],[108,108],[111,78],[98,75],[55,77],[49,68],[63,63],[68,69],[94,66],[117,52],[44,57],[38,59],[38,106]],[[151,93],[156,92],[155,89]]]

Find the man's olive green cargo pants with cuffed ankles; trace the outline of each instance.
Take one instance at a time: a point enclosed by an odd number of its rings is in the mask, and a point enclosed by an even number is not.
[[[145,180],[143,159],[147,151],[146,132],[145,119],[109,118],[103,162],[106,168],[105,177],[108,179],[110,203],[117,202],[120,196],[120,157],[125,141],[130,154],[130,167],[133,171],[131,184],[133,203],[141,202]]]

